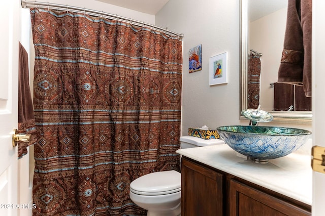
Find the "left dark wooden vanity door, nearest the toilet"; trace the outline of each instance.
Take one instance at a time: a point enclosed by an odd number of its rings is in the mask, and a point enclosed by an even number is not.
[[[222,215],[222,175],[184,157],[182,215]]]

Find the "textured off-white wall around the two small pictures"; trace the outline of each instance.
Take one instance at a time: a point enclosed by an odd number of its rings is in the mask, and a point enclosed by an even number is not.
[[[188,127],[247,125],[239,120],[239,0],[170,0],[156,25],[183,38],[182,136]],[[188,50],[202,44],[202,70],[188,73]],[[228,84],[209,86],[209,58],[228,52]],[[263,124],[261,124],[263,125]],[[311,130],[311,125],[280,124]]]

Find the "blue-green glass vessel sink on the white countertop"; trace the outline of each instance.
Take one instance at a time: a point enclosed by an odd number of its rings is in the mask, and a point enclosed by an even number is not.
[[[296,151],[311,135],[305,129],[251,125],[220,126],[217,131],[232,149],[258,162]]]

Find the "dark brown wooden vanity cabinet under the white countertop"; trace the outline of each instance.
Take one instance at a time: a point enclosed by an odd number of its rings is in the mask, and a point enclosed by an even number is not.
[[[311,206],[182,157],[182,216],[305,216]]]

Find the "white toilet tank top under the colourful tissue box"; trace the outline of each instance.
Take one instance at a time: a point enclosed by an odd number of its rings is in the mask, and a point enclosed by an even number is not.
[[[224,144],[224,142],[220,139],[205,140],[192,136],[183,136],[180,137],[179,140],[181,142],[181,149]]]

